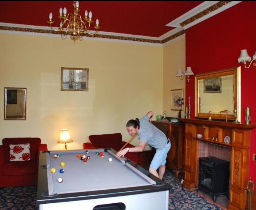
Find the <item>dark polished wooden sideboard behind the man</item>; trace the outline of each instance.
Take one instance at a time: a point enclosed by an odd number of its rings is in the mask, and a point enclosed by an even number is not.
[[[184,123],[152,121],[152,124],[161,130],[171,141],[171,149],[167,154],[166,167],[178,174],[181,172],[184,154]]]

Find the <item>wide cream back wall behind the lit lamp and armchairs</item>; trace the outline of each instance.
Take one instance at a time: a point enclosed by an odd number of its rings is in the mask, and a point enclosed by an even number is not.
[[[174,88],[167,68],[175,59],[163,63],[163,58],[173,57],[166,54],[173,55],[176,50],[170,48],[180,44],[163,50],[137,43],[74,43],[69,38],[1,33],[0,45],[0,139],[40,137],[48,149],[64,149],[57,140],[59,130],[68,128],[74,140],[68,149],[81,149],[91,134],[120,132],[124,141],[129,140],[127,121],[150,110],[155,116],[162,113],[163,102],[168,115],[176,115],[167,110],[169,101],[162,100],[163,93],[169,96]],[[164,91],[163,64],[164,84],[168,83]],[[61,91],[61,67],[89,68],[89,91]],[[4,120],[4,87],[27,88],[27,120]],[[132,144],[137,143],[136,138]]]

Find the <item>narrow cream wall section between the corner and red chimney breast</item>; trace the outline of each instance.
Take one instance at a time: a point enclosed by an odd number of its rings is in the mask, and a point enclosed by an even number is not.
[[[178,111],[171,110],[171,90],[183,89],[185,105],[186,82],[185,79],[181,80],[176,77],[178,68],[182,68],[185,72],[185,65],[186,40],[185,35],[182,35],[163,46],[163,111],[166,111],[168,117],[178,116]],[[184,118],[184,109],[181,112],[181,117]]]

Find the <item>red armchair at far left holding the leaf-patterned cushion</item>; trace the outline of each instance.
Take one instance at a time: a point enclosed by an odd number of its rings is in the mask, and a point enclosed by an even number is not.
[[[40,138],[5,138],[0,145],[0,188],[36,185],[40,151],[47,150]],[[10,146],[29,143],[29,159],[10,161]],[[14,151],[14,150],[13,150]]]

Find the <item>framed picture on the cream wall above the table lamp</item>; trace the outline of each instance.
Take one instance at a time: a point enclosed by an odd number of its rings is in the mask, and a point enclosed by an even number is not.
[[[62,91],[89,91],[89,69],[61,67]]]

